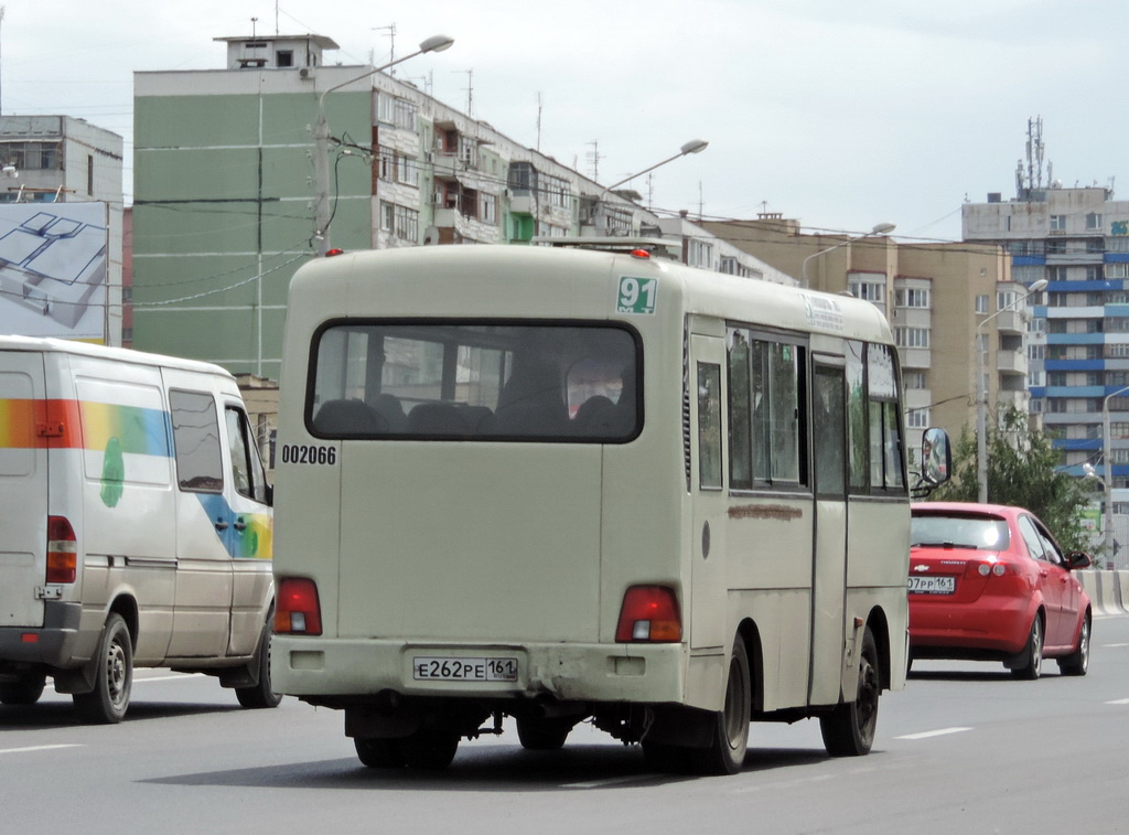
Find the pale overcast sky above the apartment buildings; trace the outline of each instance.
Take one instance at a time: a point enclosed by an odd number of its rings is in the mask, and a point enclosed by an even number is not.
[[[1111,0],[0,0],[0,112],[124,137],[133,72],[221,69],[216,37],[315,33],[657,211],[955,241],[1015,195],[1027,125],[1064,185],[1129,189],[1129,3]],[[253,18],[256,18],[253,20]],[[313,113],[310,120],[313,121]]]

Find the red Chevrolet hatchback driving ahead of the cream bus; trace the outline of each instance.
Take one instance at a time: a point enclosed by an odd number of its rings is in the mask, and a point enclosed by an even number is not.
[[[1044,658],[1067,676],[1089,667],[1091,606],[1064,555],[1030,511],[916,502],[910,537],[910,656],[1003,661],[1036,679]]]

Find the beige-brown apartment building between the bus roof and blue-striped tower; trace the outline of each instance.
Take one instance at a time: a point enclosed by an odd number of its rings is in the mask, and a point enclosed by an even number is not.
[[[899,347],[911,450],[929,426],[954,438],[975,428],[978,346],[987,414],[1007,405],[1027,410],[1026,299],[1001,247],[805,234],[797,220],[777,215],[702,226],[802,285],[850,293],[882,310]]]

